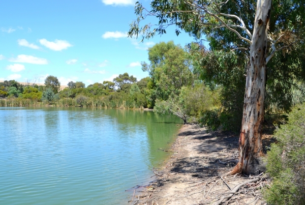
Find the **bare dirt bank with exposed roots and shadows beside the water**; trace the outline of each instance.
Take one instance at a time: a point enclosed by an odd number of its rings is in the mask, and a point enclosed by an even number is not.
[[[263,144],[273,142],[270,135]],[[266,204],[261,189],[270,183],[258,176],[227,175],[238,159],[238,136],[231,132],[206,133],[185,125],[172,145],[164,166],[154,170],[157,180],[135,190],[129,204]]]

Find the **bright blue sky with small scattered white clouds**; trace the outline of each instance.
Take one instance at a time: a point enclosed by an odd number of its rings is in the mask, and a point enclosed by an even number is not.
[[[143,43],[128,38],[135,2],[1,0],[0,81],[43,83],[53,75],[62,85],[82,81],[87,86],[125,72],[138,80],[148,76],[140,65],[149,63],[147,48],[170,40],[183,47],[193,38],[177,37],[175,27]],[[149,8],[150,1],[141,3]]]

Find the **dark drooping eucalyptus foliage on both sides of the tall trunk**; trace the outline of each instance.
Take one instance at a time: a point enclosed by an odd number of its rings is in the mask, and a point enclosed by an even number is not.
[[[302,0],[272,1],[268,36],[273,40],[278,39],[276,48],[280,51],[275,53],[266,69],[264,107],[268,114],[290,111],[295,103],[305,100],[303,4]],[[190,44],[188,51],[193,61],[194,73],[199,74],[200,79],[207,85],[222,86],[222,109],[218,113],[220,124],[224,129],[239,130],[245,94],[245,75],[250,59],[249,42],[254,27],[257,1],[237,0],[223,4],[214,0],[153,0],[150,6],[151,9],[146,12],[140,2],[136,3],[137,19],[130,24],[129,36],[142,35],[142,40],[149,39],[156,34],[166,33],[170,25],[176,26],[176,35],[185,31],[193,36],[197,43]],[[140,24],[146,23],[150,16],[157,17],[159,22],[141,26]],[[237,17],[242,19],[242,22]],[[232,25],[231,31],[225,28],[225,23]],[[249,31],[241,27],[247,27]],[[238,38],[236,33],[232,32],[232,28],[243,39]],[[203,36],[209,42],[208,49],[203,46]],[[266,56],[272,52],[272,41],[267,43]],[[156,59],[155,64],[163,60],[162,57],[152,59]],[[149,71],[147,64],[142,64],[142,67],[143,70]],[[154,95],[157,94],[150,93],[150,98],[154,100]]]

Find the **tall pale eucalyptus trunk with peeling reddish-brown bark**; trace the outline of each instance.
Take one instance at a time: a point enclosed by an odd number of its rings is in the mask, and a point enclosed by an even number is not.
[[[271,0],[258,0],[254,22],[246,93],[239,137],[239,161],[231,173],[258,174],[262,161],[262,123],[266,81],[266,48]]]

